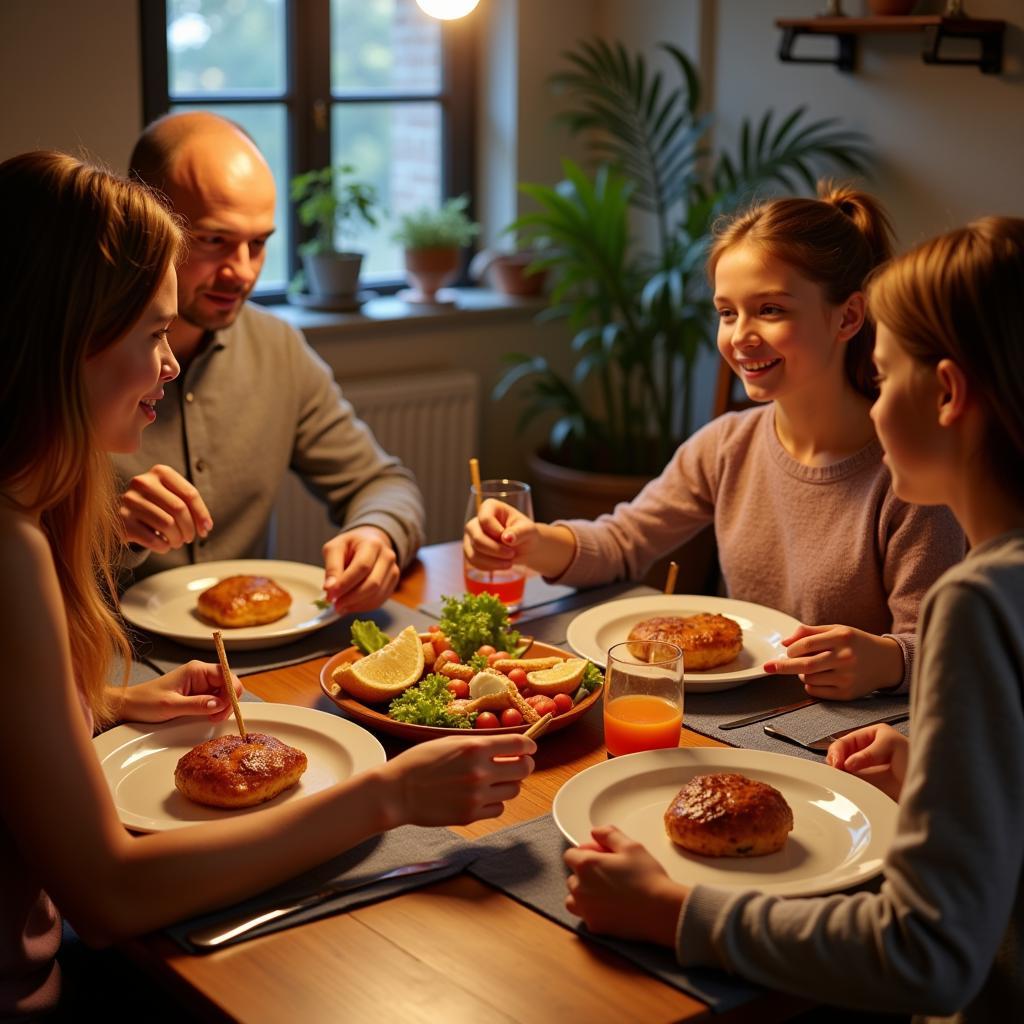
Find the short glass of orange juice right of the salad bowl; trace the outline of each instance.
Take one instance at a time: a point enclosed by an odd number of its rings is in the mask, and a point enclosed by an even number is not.
[[[683,651],[662,640],[630,640],[608,650],[604,743],[608,753],[678,746],[683,727]]]

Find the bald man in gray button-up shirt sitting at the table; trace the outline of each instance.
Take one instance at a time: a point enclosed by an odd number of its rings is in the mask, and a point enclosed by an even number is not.
[[[341,527],[324,546],[329,600],[341,612],[378,607],[422,541],[423,500],[302,336],[246,302],[274,229],[266,161],[238,125],[172,114],[143,132],[131,174],[164,193],[189,231],[169,335],[181,375],[139,451],[115,459],[134,579],[268,557],[292,469]]]

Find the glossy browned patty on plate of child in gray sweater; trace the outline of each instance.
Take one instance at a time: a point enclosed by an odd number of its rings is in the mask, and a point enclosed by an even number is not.
[[[669,805],[665,830],[705,857],[759,857],[785,845],[793,810],[767,782],[737,772],[697,775]]]

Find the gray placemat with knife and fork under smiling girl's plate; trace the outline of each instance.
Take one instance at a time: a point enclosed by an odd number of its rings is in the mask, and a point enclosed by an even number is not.
[[[720,729],[723,722],[743,718],[756,712],[781,705],[796,703],[807,697],[803,683],[790,676],[769,676],[755,679],[732,690],[715,693],[686,693],[683,724],[712,739],[733,746],[773,754],[793,754],[810,761],[821,761],[823,754],[806,751],[765,733],[764,722],[740,726],[738,729]],[[823,700],[777,718],[769,719],[772,725],[802,740],[817,739],[839,729],[850,729],[874,722],[888,715],[907,709],[906,695],[877,695],[859,700]],[[893,728],[907,734],[908,725],[900,722]]]

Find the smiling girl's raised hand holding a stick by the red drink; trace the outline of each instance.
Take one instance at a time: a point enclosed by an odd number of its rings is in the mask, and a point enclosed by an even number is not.
[[[466,523],[462,550],[477,568],[498,571],[516,564],[559,577],[575,553],[575,538],[566,526],[534,522],[511,505],[488,498],[480,514]]]

